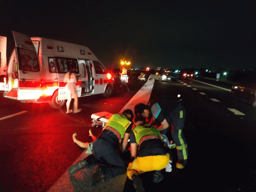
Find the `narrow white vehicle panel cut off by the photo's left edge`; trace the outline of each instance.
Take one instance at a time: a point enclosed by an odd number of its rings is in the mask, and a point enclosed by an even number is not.
[[[6,43],[7,38],[0,36],[0,90],[6,90],[7,88]]]

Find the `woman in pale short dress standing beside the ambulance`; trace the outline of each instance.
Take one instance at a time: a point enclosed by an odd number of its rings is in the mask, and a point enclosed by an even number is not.
[[[72,73],[72,69],[66,73],[64,82],[66,84],[66,92],[67,92],[67,112],[66,113],[79,113],[81,109],[78,109],[78,95],[76,93],[76,76],[75,73]],[[70,110],[70,102],[72,97],[74,97],[74,109]]]

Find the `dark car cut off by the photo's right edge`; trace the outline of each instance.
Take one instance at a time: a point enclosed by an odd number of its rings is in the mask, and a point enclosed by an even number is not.
[[[239,74],[239,83],[232,86],[231,96],[256,107],[256,73]]]

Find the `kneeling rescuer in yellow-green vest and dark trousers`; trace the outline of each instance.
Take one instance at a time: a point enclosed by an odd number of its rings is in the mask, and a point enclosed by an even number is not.
[[[117,175],[124,174],[126,166],[119,155],[119,150],[124,152],[127,147],[133,116],[134,114],[130,109],[126,109],[122,114],[113,114],[103,128],[102,133],[93,142],[93,158],[88,156],[89,160],[84,159],[71,166],[68,173],[74,175],[80,169],[87,167],[88,164],[90,165],[91,163],[88,161],[95,162],[96,159],[98,164],[90,180],[90,186],[94,186],[100,180],[109,180]]]

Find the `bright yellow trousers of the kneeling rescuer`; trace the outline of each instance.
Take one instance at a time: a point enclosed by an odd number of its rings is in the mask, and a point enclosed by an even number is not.
[[[129,163],[127,168],[127,176],[131,179],[132,175],[140,175],[144,172],[158,171],[164,169],[170,160],[170,155],[156,155],[137,157],[133,162]],[[132,179],[131,179],[132,180]]]

